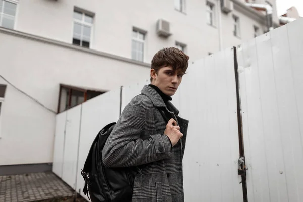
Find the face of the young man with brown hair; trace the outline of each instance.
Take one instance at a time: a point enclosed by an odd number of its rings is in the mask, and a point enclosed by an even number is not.
[[[156,74],[154,69],[150,71],[151,84],[157,86],[164,94],[172,96],[176,93],[181,81],[183,72],[181,69],[174,71],[172,66],[159,69]]]

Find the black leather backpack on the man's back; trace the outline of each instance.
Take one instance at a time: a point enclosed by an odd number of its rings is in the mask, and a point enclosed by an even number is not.
[[[163,118],[168,122],[165,111],[159,109]],[[83,193],[92,202],[128,202],[132,199],[133,182],[137,173],[144,167],[105,168],[102,162],[102,149],[115,122],[102,128],[95,137],[81,175],[84,178]]]

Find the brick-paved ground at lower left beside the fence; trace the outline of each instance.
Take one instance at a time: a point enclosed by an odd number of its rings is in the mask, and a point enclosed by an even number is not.
[[[0,176],[0,202],[28,202],[73,194],[73,189],[52,172]]]

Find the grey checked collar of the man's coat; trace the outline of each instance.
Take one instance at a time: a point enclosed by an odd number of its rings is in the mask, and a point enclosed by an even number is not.
[[[143,95],[146,95],[151,102],[153,103],[153,105],[155,107],[164,107],[167,108],[168,110],[172,111],[173,113],[175,113],[176,115],[179,114],[179,110],[170,102],[167,102],[167,106],[165,105],[162,97],[159,95],[159,93],[152,87],[145,85],[143,87],[143,89],[141,90],[141,93]]]

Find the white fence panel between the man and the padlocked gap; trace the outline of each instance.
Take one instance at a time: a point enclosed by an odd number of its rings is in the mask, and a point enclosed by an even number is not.
[[[180,86],[189,119],[183,160],[185,201],[242,201],[233,48],[195,61]]]

